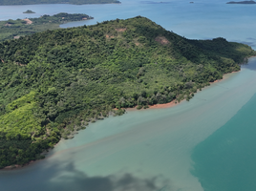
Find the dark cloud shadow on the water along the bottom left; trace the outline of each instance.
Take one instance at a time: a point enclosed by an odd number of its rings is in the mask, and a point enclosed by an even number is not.
[[[37,167],[25,171],[21,169],[0,172],[1,190],[171,191],[170,188],[167,189],[166,187],[164,189],[165,187],[162,187],[170,182],[169,180],[160,182],[161,176],[140,179],[127,173],[120,176],[89,177],[84,172],[76,169],[73,162],[65,165],[55,163],[48,167],[44,167],[44,165]],[[12,182],[15,182],[15,184]]]

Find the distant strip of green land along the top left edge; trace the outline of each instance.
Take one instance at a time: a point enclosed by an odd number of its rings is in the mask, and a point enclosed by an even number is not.
[[[108,4],[120,3],[117,0],[1,0],[0,6],[6,5],[33,5],[33,4]]]

